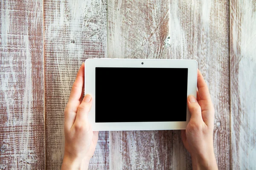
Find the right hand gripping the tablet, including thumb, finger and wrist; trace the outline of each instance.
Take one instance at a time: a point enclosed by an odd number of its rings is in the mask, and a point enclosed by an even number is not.
[[[213,150],[214,107],[207,84],[199,70],[197,79],[197,100],[194,96],[187,99],[191,118],[186,130],[181,131],[181,137],[191,155],[194,170],[217,170]]]

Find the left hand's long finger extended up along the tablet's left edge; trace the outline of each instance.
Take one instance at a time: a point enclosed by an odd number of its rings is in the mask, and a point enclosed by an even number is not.
[[[82,93],[82,88],[84,85],[84,63],[79,68],[79,71],[76,75],[76,80],[73,84],[73,87],[70,92],[69,102],[79,101]]]

